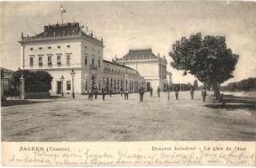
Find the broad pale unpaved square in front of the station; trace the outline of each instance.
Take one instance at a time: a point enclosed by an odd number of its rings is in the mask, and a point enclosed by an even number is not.
[[[202,102],[200,92],[171,92],[153,97],[146,93],[109,95],[88,101],[76,95],[29,99],[2,107],[2,141],[157,141],[256,140],[256,110],[251,106],[218,108],[211,96]]]

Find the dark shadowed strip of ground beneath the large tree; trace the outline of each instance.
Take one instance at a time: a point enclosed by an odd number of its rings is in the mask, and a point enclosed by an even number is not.
[[[218,102],[213,97],[211,97],[212,102]],[[256,112],[256,98],[255,97],[235,97],[233,95],[224,96],[223,105],[221,102],[214,104],[206,104],[207,108],[223,108],[228,110],[235,109],[248,109],[250,111]]]

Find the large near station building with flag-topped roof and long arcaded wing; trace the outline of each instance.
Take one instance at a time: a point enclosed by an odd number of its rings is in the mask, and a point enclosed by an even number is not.
[[[64,93],[72,92],[72,69],[76,72],[74,90],[77,93],[88,92],[92,80],[97,81],[99,89],[106,87],[115,92],[120,89],[116,88],[117,84],[126,87],[126,79],[142,79],[135,69],[104,60],[103,39],[94,37],[93,32],[85,33],[79,23],[45,25],[44,31],[35,36],[21,34],[19,43],[21,69],[24,66],[25,70],[50,73],[53,94],[61,94],[62,75]]]

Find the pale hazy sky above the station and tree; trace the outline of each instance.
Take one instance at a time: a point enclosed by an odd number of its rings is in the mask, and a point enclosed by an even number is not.
[[[173,82],[193,83],[194,76],[174,70],[168,53],[182,37],[201,32],[224,35],[227,47],[240,55],[234,77],[224,84],[256,77],[256,3],[232,1],[183,2],[2,2],[1,66],[18,70],[20,34],[40,34],[44,25],[80,22],[104,39],[104,59],[120,58],[129,49],[152,48],[165,55]]]

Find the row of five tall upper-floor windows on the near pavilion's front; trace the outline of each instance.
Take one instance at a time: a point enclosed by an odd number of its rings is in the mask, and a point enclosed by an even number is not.
[[[47,65],[51,67],[52,66],[52,56],[49,55],[47,57],[47,60],[48,60]],[[70,55],[67,55],[67,66],[70,66],[70,60],[71,60]],[[34,57],[32,57],[32,56],[30,56],[29,65],[31,67],[34,66]],[[40,67],[43,66],[43,56],[38,57],[38,65]],[[57,66],[61,66],[61,55],[57,55]]]

